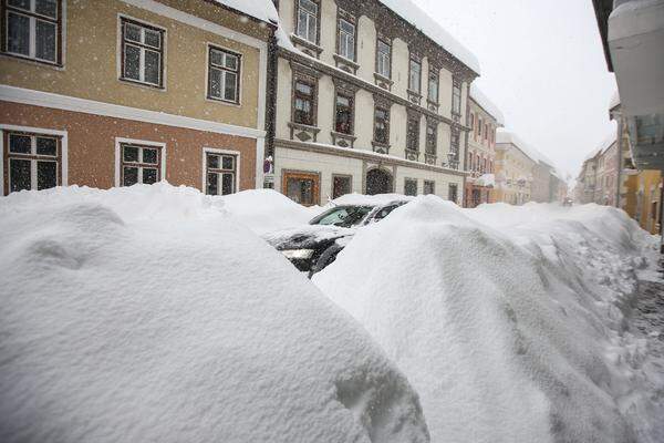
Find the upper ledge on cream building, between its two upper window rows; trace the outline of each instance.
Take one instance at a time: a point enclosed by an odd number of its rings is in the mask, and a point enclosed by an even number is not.
[[[446,116],[443,116],[440,114],[432,112],[432,111],[427,110],[426,107],[416,105],[404,97],[401,97],[390,91],[386,91],[380,86],[376,86],[373,83],[370,83],[370,82],[367,82],[363,79],[360,79],[360,78],[357,78],[351,73],[347,73],[345,71],[342,71],[335,66],[331,66],[320,60],[313,59],[305,54],[300,54],[297,52],[289,51],[284,48],[279,48],[279,56],[284,60],[290,61],[291,63],[299,63],[309,69],[313,69],[323,74],[330,75],[332,79],[339,79],[343,82],[353,84],[356,87],[363,89],[374,95],[384,97],[393,104],[400,104],[402,106],[405,106],[407,110],[416,111],[416,112],[418,112],[423,115],[426,115],[430,119],[435,119],[440,123],[446,123],[452,127],[458,127],[460,131],[465,131],[465,132],[470,131],[470,127],[468,127],[468,126],[464,126],[460,123],[454,122],[452,119],[448,119]]]

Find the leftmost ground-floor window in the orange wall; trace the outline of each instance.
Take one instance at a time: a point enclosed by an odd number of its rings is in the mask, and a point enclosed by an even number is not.
[[[4,133],[4,193],[60,185],[61,143],[52,135]]]

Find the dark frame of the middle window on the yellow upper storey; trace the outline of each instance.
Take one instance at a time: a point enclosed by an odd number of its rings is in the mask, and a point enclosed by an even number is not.
[[[125,39],[125,24],[132,24],[142,29],[147,29],[151,31],[155,31],[157,33],[159,33],[160,37],[160,41],[159,41],[159,48],[158,51],[156,48],[151,47],[148,44],[145,43],[141,43],[141,42],[135,42],[135,41],[127,41]],[[144,33],[144,31],[142,31],[142,33]],[[162,90],[165,91],[166,90],[166,39],[167,38],[167,30],[165,28],[152,24],[152,23],[147,23],[144,22],[142,20],[137,20],[134,19],[132,17],[128,16],[124,16],[124,14],[118,14],[118,76],[117,79],[121,82],[126,82],[126,83],[131,83],[131,84],[137,84],[141,86],[147,86],[147,87],[152,87],[155,90]],[[159,53],[159,83],[155,84],[155,83],[151,83],[151,82],[146,82],[145,80],[136,80],[136,79],[131,79],[125,76],[125,59],[126,59],[126,45],[134,45],[134,47],[138,47],[138,49],[141,50],[141,55],[139,55],[139,60],[145,60],[145,51],[153,51],[153,52],[158,52]],[[143,70],[141,69],[141,62],[138,64],[138,78],[143,76],[145,78],[145,62],[143,62]]]

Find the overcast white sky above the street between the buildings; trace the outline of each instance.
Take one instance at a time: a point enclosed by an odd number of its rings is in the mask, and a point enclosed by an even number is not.
[[[609,134],[615,90],[592,1],[414,1],[479,59],[506,127],[575,176]]]

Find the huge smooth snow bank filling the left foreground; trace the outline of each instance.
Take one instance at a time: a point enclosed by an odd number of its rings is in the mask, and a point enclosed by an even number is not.
[[[365,331],[221,206],[0,199],[0,441],[428,441]]]

